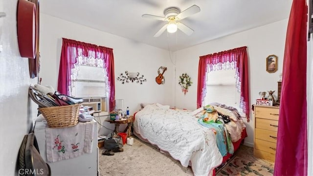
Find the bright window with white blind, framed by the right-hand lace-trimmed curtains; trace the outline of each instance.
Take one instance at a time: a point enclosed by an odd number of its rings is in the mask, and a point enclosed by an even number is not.
[[[211,71],[207,74],[206,95],[202,105],[219,102],[235,107],[239,112],[240,92],[236,88],[235,69]]]

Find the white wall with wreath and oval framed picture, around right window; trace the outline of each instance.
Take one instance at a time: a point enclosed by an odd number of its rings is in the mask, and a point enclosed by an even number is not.
[[[191,76],[193,84],[186,96],[181,92],[179,85],[176,85],[176,106],[187,109],[197,108],[200,56],[243,46],[247,46],[249,62],[249,108],[251,109],[251,105],[255,104],[256,99],[259,98],[260,91],[276,90],[274,95],[277,96],[277,81],[283,70],[287,24],[288,20],[282,20],[177,51],[176,76],[186,72]],[[269,74],[266,71],[266,58],[271,54],[278,56],[278,70]],[[246,119],[244,121],[246,122]],[[245,124],[248,133],[245,144],[253,146],[254,119],[252,112],[250,113],[250,122]]]

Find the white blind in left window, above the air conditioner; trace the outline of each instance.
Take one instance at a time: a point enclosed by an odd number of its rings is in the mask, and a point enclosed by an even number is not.
[[[103,68],[80,65],[77,80],[72,81],[73,97],[106,97]]]

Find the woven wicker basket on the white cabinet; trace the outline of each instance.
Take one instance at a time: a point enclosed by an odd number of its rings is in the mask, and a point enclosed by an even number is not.
[[[80,104],[67,106],[41,107],[38,110],[45,117],[51,128],[63,128],[78,124],[78,112]]]

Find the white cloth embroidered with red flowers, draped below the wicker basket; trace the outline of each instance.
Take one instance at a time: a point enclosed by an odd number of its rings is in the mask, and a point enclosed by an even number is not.
[[[95,122],[45,129],[47,161],[55,162],[92,152]]]

